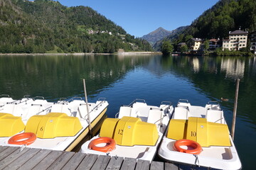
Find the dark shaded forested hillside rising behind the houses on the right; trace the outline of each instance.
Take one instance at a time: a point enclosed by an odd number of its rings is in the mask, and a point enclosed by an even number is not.
[[[229,31],[256,30],[255,0],[220,0],[212,8],[205,11],[183,30],[178,38],[171,38],[174,44],[186,42],[188,38],[226,38]]]

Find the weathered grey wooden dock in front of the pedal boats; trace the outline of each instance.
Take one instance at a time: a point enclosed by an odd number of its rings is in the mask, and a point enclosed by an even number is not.
[[[182,166],[167,162],[148,162],[143,160],[110,157],[96,154],[82,154],[78,152],[63,152],[46,149],[33,149],[25,147],[0,146],[0,169],[145,169],[161,170],[183,169]]]

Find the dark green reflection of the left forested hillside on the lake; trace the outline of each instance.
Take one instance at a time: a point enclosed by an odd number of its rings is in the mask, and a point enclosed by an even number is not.
[[[60,97],[82,96],[81,79],[87,79],[89,95],[122,79],[149,57],[116,56],[8,56],[0,57],[0,91],[14,98],[24,94]]]

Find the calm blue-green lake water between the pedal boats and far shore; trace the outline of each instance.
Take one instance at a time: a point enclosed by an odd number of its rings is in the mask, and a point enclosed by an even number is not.
[[[192,105],[219,101],[231,127],[235,79],[239,78],[238,118],[235,145],[243,169],[255,169],[256,142],[256,57],[180,57],[161,55],[60,55],[1,56],[0,94],[14,99],[26,94],[48,101],[105,97],[108,117],[114,118],[122,104],[143,98],[149,105],[186,98]],[[220,98],[229,101],[221,102]]]

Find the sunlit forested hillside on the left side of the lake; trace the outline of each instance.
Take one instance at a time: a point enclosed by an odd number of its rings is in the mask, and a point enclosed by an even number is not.
[[[0,52],[151,51],[90,7],[50,0],[0,0]]]

